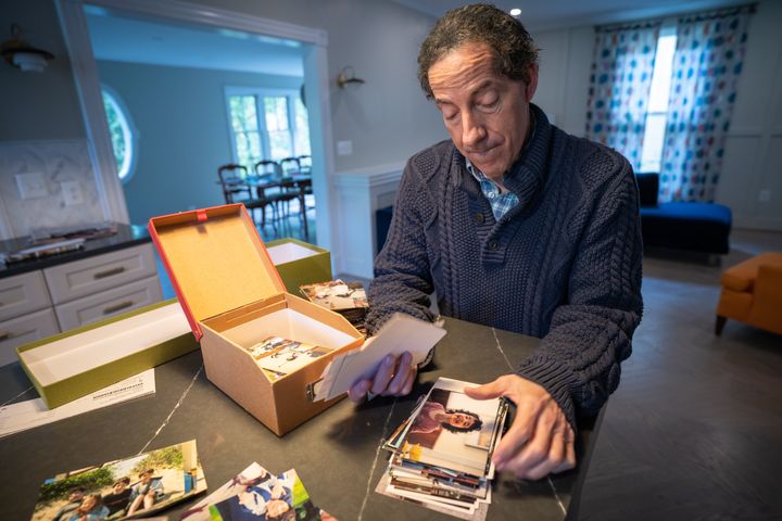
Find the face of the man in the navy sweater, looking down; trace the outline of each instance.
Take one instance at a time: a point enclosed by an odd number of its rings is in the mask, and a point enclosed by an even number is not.
[[[537,66],[529,76],[526,84],[496,72],[485,43],[457,47],[429,68],[429,85],[451,139],[492,180],[502,180],[527,139]]]

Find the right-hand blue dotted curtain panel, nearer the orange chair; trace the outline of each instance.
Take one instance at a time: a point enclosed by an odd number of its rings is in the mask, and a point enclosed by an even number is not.
[[[752,8],[679,21],[660,202],[712,202]]]

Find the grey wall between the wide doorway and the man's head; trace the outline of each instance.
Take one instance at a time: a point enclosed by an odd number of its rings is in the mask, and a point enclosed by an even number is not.
[[[418,48],[433,17],[387,0],[195,1],[328,33],[336,171],[404,162],[447,137],[416,79]],[[366,84],[339,89],[337,75],[346,65]],[[352,155],[337,155],[343,140],[353,142]]]

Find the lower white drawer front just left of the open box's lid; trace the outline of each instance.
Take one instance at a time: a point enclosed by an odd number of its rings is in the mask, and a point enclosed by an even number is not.
[[[160,280],[154,275],[77,301],[54,306],[60,327],[68,331],[163,300]]]

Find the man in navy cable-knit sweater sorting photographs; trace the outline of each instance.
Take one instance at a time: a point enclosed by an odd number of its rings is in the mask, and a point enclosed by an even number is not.
[[[490,5],[449,12],[424,41],[418,77],[451,140],[407,163],[366,321],[371,334],[396,312],[431,319],[433,292],[443,315],[542,338],[515,373],[467,391],[516,404],[492,459],[524,479],[576,465],[577,416],[618,385],[642,312],[632,169],[531,103],[537,58]],[[404,395],[415,377],[409,354],[388,357],[350,396]]]

